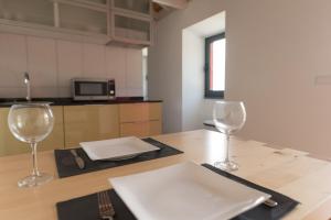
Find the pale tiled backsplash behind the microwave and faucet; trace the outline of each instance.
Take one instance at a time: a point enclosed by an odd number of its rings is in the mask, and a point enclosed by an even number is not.
[[[71,78],[115,78],[116,95],[142,96],[141,50],[0,33],[0,98],[71,97]]]

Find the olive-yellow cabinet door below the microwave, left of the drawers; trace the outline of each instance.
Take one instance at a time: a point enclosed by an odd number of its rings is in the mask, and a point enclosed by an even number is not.
[[[118,105],[64,107],[65,147],[119,136]]]

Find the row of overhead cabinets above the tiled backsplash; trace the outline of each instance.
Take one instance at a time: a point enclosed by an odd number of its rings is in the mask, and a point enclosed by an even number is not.
[[[0,31],[148,46],[150,0],[0,0]]]

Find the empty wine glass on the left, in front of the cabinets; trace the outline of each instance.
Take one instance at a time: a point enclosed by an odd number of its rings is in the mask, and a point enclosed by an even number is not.
[[[26,102],[13,105],[8,114],[8,125],[19,141],[29,143],[32,151],[32,174],[18,182],[19,187],[34,187],[53,179],[38,169],[36,144],[53,130],[54,117],[50,103]]]

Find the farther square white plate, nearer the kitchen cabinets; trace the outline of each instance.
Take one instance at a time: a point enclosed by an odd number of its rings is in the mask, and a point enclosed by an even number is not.
[[[83,142],[81,143],[81,146],[92,161],[126,160],[146,152],[160,150],[159,147],[146,143],[145,141],[141,141],[140,139],[135,136],[111,139],[105,141]]]

